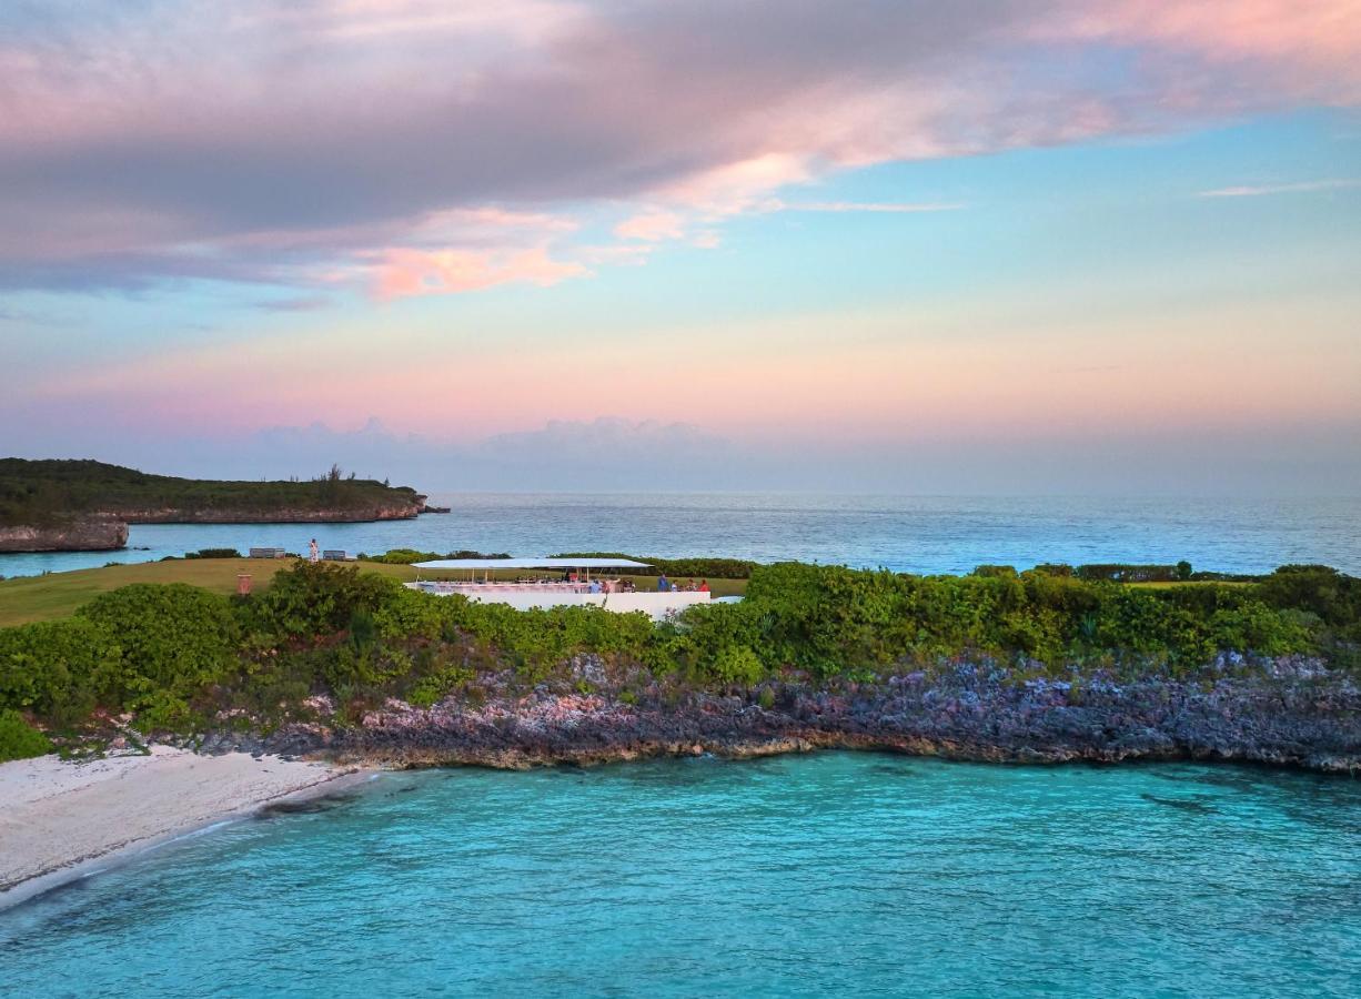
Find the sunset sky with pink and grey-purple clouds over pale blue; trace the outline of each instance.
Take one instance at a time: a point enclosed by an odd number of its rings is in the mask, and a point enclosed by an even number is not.
[[[0,453],[1361,494],[1361,0],[7,0]]]

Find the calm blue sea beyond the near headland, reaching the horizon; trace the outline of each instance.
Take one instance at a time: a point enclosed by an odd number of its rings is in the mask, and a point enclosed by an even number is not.
[[[1176,562],[1270,572],[1324,562],[1361,574],[1361,498],[1149,500],[783,494],[459,494],[448,516],[382,524],[133,527],[143,550],[0,555],[0,576],[140,562],[207,547],[381,553],[625,551],[958,573],[984,562]]]

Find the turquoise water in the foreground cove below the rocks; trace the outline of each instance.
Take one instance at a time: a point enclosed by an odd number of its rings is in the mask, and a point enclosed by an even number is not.
[[[829,753],[388,774],[0,913],[0,991],[1356,996],[1361,783]]]

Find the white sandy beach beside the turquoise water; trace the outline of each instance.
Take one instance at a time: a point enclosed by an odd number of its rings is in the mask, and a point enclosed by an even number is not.
[[[86,870],[352,773],[327,764],[206,757],[157,746],[151,755],[0,764],[0,906]]]

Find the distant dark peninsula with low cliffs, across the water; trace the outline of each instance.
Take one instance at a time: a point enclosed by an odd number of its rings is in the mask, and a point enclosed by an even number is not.
[[[150,475],[103,461],[0,459],[0,551],[103,551],[129,524],[401,520],[426,512],[410,486],[344,475],[227,482]]]

